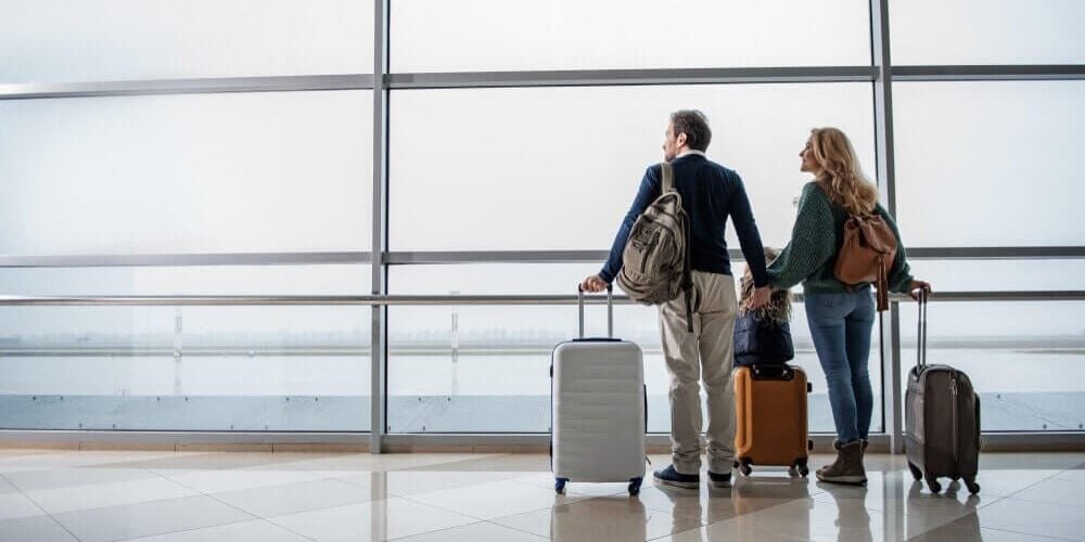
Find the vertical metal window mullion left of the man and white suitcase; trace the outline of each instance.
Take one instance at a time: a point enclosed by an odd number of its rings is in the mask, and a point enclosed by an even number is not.
[[[388,0],[373,2],[373,202],[372,202],[372,295],[386,292],[384,255],[387,250],[387,229],[385,217],[385,194],[387,194],[387,73],[388,47]],[[369,451],[383,451],[384,430],[387,422],[385,401],[385,379],[387,350],[387,306],[374,305],[370,326],[370,427]]]

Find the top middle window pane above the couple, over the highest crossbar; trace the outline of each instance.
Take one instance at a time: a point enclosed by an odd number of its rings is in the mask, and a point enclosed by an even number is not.
[[[867,10],[864,0],[396,0],[392,69],[866,65]]]

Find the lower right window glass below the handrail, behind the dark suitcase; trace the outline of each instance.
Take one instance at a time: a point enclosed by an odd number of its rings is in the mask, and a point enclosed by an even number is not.
[[[965,371],[980,395],[984,431],[1085,427],[1082,304],[936,302],[928,309],[928,363]],[[1026,315],[1026,317],[1025,317]],[[902,389],[916,364],[915,304],[901,311]]]

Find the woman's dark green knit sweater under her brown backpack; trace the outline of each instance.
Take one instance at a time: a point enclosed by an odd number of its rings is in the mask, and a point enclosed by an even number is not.
[[[901,232],[893,217],[881,206],[875,210],[893,230],[896,236],[896,258],[889,270],[890,292],[907,292],[911,284],[911,273]],[[837,266],[837,250],[844,241],[844,222],[847,211],[829,201],[828,194],[817,182],[803,186],[799,198],[799,216],[791,231],[791,242],[768,267],[769,281],[775,288],[789,289],[800,282],[807,294],[835,294],[847,292],[847,286],[833,275]]]

